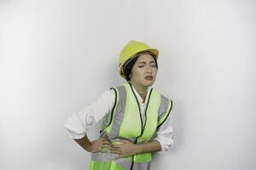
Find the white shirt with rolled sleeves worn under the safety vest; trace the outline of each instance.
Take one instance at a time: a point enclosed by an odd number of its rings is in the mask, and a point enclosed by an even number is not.
[[[137,95],[138,103],[141,108],[141,113],[143,114],[143,123],[145,120],[145,109],[148,105],[148,95],[150,88],[148,88],[148,93],[146,95],[145,102],[143,103],[142,97],[137,93],[137,90],[132,86],[134,93]],[[99,96],[95,102],[90,105],[85,106],[79,111],[74,111],[72,116],[67,119],[65,123],[68,135],[72,139],[81,139],[84,137],[88,129],[100,122],[104,116],[111,113],[114,105],[115,93],[113,89],[109,89]],[[173,130],[172,130],[172,111],[166,122],[164,122],[161,127],[156,132],[155,140],[160,142],[161,150],[158,153],[164,153],[173,144]]]

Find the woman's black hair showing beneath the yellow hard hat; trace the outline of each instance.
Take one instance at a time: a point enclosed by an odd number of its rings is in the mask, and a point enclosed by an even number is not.
[[[145,52],[144,52],[145,53]],[[143,54],[144,54],[143,53]],[[140,54],[137,54],[135,57],[127,60],[123,66],[123,71],[124,71],[124,75],[125,75],[125,80],[127,82],[130,82],[131,81],[131,78],[129,77],[130,74],[131,74],[131,70],[132,70],[132,67],[133,65],[136,63],[137,59],[139,58],[139,56],[141,56],[142,53]],[[154,58],[154,62],[155,62],[155,66],[156,66],[156,69],[158,69],[158,65],[157,65],[157,61],[155,59],[155,56],[154,54],[151,54],[151,53],[147,53],[147,54],[150,54],[153,58]]]

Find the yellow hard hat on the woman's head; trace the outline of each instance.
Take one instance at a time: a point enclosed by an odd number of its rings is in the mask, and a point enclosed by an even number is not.
[[[119,55],[119,74],[121,77],[125,78],[123,71],[123,66],[125,65],[125,62],[136,57],[137,54],[143,52],[149,52],[151,54],[154,54],[155,59],[158,58],[159,50],[156,48],[150,48],[145,42],[131,40],[125,45]]]

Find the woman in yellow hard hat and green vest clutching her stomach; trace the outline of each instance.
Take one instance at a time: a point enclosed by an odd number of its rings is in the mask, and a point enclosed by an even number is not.
[[[67,120],[69,136],[92,153],[90,170],[149,169],[152,153],[173,144],[172,99],[150,88],[158,54],[144,42],[128,42],[119,56],[119,74],[127,82]],[[100,138],[90,142],[87,130],[102,119]]]

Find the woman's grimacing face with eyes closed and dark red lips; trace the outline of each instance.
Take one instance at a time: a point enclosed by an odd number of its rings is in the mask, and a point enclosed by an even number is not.
[[[156,74],[157,68],[153,56],[141,54],[131,69],[131,82],[141,88],[148,88],[153,85]]]

